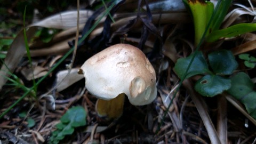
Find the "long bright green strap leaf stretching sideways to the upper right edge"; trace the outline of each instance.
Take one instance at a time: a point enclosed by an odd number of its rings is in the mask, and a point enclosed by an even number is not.
[[[230,26],[225,29],[215,30],[211,34],[209,34],[205,41],[212,43],[216,42],[221,38],[229,38],[238,36],[241,34],[249,33],[256,30],[256,23],[239,23],[234,26]]]

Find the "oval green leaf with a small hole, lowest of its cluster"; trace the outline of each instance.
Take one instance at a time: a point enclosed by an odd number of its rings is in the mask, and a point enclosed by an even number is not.
[[[228,78],[218,75],[206,75],[200,78],[195,84],[195,90],[206,97],[213,97],[228,90],[231,81]]]

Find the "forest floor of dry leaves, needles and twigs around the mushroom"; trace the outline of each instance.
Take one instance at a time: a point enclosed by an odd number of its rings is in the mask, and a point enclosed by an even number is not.
[[[241,3],[249,5],[247,1]],[[6,81],[0,79],[0,84],[4,83],[0,91],[0,143],[54,143],[56,125],[68,110],[77,106],[85,110],[86,124],[74,131],[69,127],[70,134],[65,134],[59,143],[255,143],[255,119],[245,114],[243,103],[226,92],[212,98],[198,94],[194,84],[202,76],[186,79],[177,89],[180,81],[173,70],[175,62],[195,51],[193,20],[183,3],[178,4],[182,6],[170,11],[149,12],[143,1],[139,14],[137,1],[114,6],[110,13],[115,22],[104,17],[78,46],[74,57],[67,53],[73,52],[71,47],[76,45],[75,2],[6,2],[0,8],[0,59],[2,67],[10,68],[11,76],[7,78],[1,73]],[[25,5],[31,61],[23,40]],[[230,9],[237,7],[233,5]],[[105,8],[101,1],[91,5],[81,2],[80,8],[82,37]],[[252,16],[237,19],[250,22]],[[210,46],[203,44],[201,50],[205,55],[219,49],[232,50],[254,42],[255,37],[254,33],[239,35]],[[122,116],[108,119],[98,116],[97,98],[85,89],[85,79],[77,71],[92,55],[117,43],[137,46],[147,55],[156,71],[157,98],[145,106],[133,106],[125,98]],[[247,53],[255,55],[255,48]],[[255,83],[255,68],[246,68],[234,55],[239,65],[237,71],[244,71]],[[76,113],[71,111],[69,116]],[[214,134],[217,137],[211,138]]]

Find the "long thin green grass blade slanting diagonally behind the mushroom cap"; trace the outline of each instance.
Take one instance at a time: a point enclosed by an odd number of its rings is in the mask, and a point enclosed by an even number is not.
[[[84,39],[85,39],[87,36],[89,36],[89,35],[91,34],[91,32],[95,29],[95,27],[97,27],[97,26],[99,25],[100,20],[101,20],[103,17],[105,17],[105,16],[109,13],[109,11],[113,8],[114,5],[115,5],[115,3],[113,3],[113,4],[111,4],[111,5],[109,6],[109,8],[106,10],[106,12],[105,12],[104,14],[102,14],[102,16],[95,22],[95,24],[90,28],[90,30],[87,31],[87,33],[86,33],[81,39],[79,39],[78,44],[80,44],[82,41],[84,41]],[[74,51],[74,47],[72,47],[72,48],[56,63],[56,65],[54,65],[54,67],[51,68],[51,69],[47,72],[47,74],[46,74],[45,76],[43,76],[42,78],[40,78],[40,79],[37,81],[37,83],[36,83],[33,87],[31,87],[28,91],[26,91],[17,101],[15,101],[9,108],[7,108],[7,109],[0,115],[0,118],[2,118],[6,113],[8,113],[8,112],[9,112],[14,106],[16,106],[23,98],[25,98],[25,97],[29,94],[29,92],[32,91],[32,90],[35,88],[35,86],[38,86],[38,85],[39,85],[50,73],[52,73],[52,71],[53,71],[54,69],[56,69],[56,68],[60,65],[60,63],[61,63],[62,61],[64,61],[64,60],[68,57],[68,55],[71,54],[73,51]]]

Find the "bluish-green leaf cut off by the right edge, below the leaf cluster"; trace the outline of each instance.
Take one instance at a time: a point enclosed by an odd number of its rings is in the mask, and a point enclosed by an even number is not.
[[[256,119],[256,91],[248,75],[241,72],[231,77],[231,87],[228,93],[241,101],[248,113]]]

